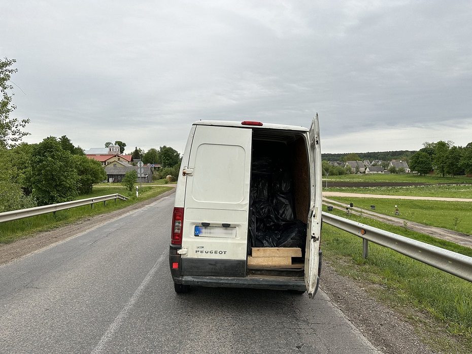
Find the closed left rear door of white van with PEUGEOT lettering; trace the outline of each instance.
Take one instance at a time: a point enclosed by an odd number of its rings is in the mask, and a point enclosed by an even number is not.
[[[182,275],[246,275],[251,146],[250,128],[196,125],[183,169]]]

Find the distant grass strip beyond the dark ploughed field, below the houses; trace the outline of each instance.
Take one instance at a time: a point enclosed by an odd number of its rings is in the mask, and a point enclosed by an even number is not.
[[[326,177],[323,177],[326,183]],[[328,176],[328,185],[330,181],[344,181],[344,182],[417,182],[417,183],[472,183],[471,177],[456,176],[456,177],[441,177],[435,175],[419,176],[415,174],[351,174],[340,176]]]

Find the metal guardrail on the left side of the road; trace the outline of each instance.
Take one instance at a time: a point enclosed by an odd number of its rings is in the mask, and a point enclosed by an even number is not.
[[[44,205],[44,206],[35,207],[35,208],[6,211],[3,213],[0,213],[0,222],[17,220],[17,219],[22,219],[24,217],[42,215],[42,214],[47,214],[47,213],[56,213],[56,211],[59,211],[59,210],[81,207],[83,205],[91,205],[91,207],[93,208],[94,203],[104,202],[104,204],[107,205],[107,201],[112,200],[112,199],[114,199],[115,202],[117,199],[124,200],[124,201],[128,200],[127,197],[122,196],[121,194],[110,194],[107,196],[79,199],[72,202],[57,203],[57,204]]]

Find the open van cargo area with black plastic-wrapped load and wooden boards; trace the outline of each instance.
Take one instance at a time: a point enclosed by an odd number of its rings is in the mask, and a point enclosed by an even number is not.
[[[303,276],[310,209],[307,141],[294,131],[257,129],[252,139],[248,274]],[[261,248],[267,248],[262,256],[254,254]]]

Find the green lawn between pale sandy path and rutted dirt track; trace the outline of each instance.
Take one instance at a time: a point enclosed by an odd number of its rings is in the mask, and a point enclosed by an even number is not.
[[[354,207],[366,210],[370,209],[370,205],[375,205],[373,211],[379,214],[472,235],[472,203],[470,202],[356,197],[329,197],[329,199],[346,205],[353,203]],[[398,206],[400,215],[395,215],[395,205]]]

